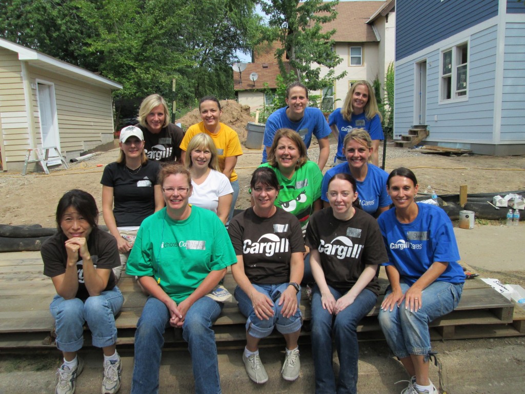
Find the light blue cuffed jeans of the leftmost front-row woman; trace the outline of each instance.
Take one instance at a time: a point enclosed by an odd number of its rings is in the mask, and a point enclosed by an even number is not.
[[[91,331],[93,346],[106,347],[117,341],[115,315],[119,313],[124,297],[117,286],[99,296],[64,299],[58,294],[49,305],[55,318],[57,347],[61,351],[77,351],[84,343],[84,323]]]

